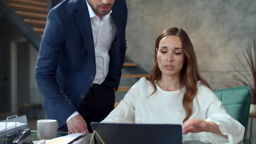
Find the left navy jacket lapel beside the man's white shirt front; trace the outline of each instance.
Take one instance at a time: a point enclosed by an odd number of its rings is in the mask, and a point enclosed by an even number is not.
[[[75,15],[77,25],[82,34],[85,47],[88,51],[88,55],[91,57],[92,62],[95,65],[95,50],[94,50],[94,37],[92,35],[91,20],[85,0],[77,0],[76,9],[78,10]]]

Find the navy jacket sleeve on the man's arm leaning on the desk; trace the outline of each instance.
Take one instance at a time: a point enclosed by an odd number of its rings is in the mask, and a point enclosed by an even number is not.
[[[49,12],[44,35],[41,41],[36,80],[47,102],[47,114],[57,115],[63,123],[75,111],[71,101],[60,91],[56,81],[56,70],[65,44],[65,28],[56,9]]]

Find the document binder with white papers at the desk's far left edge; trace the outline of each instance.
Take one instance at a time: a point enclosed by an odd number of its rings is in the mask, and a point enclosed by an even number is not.
[[[28,128],[27,117],[24,116],[9,116],[5,120],[0,121],[0,144],[11,143],[19,131]]]

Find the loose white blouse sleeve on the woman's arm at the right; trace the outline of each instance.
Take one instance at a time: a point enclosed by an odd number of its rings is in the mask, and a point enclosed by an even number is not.
[[[218,124],[220,132],[228,136],[228,139],[225,139],[225,137],[214,133],[206,133],[208,139],[211,142],[218,143],[238,143],[242,141],[245,127],[226,113],[218,97],[210,89],[203,89],[200,96],[203,97],[204,101],[201,101],[201,104],[205,104],[203,109],[206,110],[206,121]]]

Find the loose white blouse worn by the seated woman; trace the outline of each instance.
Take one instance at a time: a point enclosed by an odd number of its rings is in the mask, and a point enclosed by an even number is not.
[[[185,87],[178,91],[163,91],[156,83],[156,92],[145,77],[139,79],[126,93],[120,104],[102,121],[104,123],[159,123],[181,124],[186,116],[182,105]],[[243,140],[245,127],[228,115],[221,101],[206,86],[197,82],[197,95],[193,100],[191,118],[215,122],[223,135],[214,133],[188,133],[183,135],[183,141],[199,140],[213,143],[238,143]],[[149,96],[150,95],[150,96]]]

